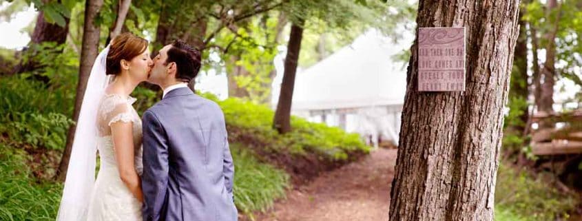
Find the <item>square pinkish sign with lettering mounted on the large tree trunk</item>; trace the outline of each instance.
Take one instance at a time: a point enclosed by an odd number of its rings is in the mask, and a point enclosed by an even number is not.
[[[418,90],[465,90],[465,28],[419,28]]]

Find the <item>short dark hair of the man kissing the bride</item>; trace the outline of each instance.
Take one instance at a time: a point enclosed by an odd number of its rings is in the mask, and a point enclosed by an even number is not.
[[[172,43],[172,48],[168,50],[167,54],[165,64],[176,63],[176,79],[178,81],[189,82],[196,78],[198,71],[200,71],[200,50],[178,39]]]

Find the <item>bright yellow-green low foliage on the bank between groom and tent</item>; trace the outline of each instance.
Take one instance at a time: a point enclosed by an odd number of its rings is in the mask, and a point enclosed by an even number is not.
[[[313,152],[331,161],[349,160],[352,154],[367,154],[370,151],[370,147],[364,144],[358,134],[349,134],[323,123],[310,123],[295,116],[291,117],[293,130],[280,135],[272,128],[274,112],[269,107],[240,101],[238,98],[225,101],[209,98],[222,107],[231,129],[229,133],[251,136],[256,142],[264,144],[262,148],[271,151],[289,151],[291,154]]]

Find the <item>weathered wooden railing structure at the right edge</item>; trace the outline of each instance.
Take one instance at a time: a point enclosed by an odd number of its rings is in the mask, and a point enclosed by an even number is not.
[[[532,123],[552,122],[557,127],[537,129],[532,133],[534,155],[582,154],[582,109],[572,112],[538,112]]]

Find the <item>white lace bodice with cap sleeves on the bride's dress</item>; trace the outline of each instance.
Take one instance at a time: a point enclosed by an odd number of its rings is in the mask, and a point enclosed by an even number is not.
[[[101,98],[97,111],[97,129],[99,142],[97,149],[101,158],[101,167],[112,166],[116,168],[116,158],[113,140],[111,136],[111,125],[119,121],[133,123],[134,154],[136,170],[141,175],[143,171],[142,149],[141,149],[141,118],[138,116],[132,104],[136,98],[127,97],[120,94],[106,94]]]

